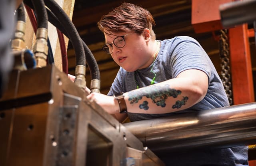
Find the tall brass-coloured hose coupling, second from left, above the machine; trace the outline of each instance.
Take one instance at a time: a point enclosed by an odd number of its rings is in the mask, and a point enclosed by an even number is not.
[[[46,28],[38,28],[36,30],[36,43],[33,52],[36,57],[36,67],[46,66],[46,59],[48,55],[48,30]]]

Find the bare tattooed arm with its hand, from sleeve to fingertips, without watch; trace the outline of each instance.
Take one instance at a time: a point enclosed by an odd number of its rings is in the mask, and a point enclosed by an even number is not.
[[[129,91],[123,95],[128,113],[163,114],[193,106],[204,98],[207,89],[207,75],[192,69],[183,71],[174,79]],[[112,115],[122,115],[119,114],[119,103],[113,96],[91,93],[87,99],[95,101]],[[120,119],[118,117],[117,119]]]

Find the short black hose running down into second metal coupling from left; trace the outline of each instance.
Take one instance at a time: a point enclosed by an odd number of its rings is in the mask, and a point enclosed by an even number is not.
[[[48,15],[44,7],[44,0],[32,0],[37,18],[37,28],[48,29]]]

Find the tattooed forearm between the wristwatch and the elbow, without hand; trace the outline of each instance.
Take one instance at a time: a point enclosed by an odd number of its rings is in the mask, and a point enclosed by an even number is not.
[[[130,113],[162,114],[187,109],[206,94],[197,83],[187,78],[175,78],[124,93],[127,110]]]

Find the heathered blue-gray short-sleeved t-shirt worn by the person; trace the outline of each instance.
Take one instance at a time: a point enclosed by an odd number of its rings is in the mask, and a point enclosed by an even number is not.
[[[226,107],[229,105],[222,81],[208,57],[207,53],[198,41],[188,36],[178,36],[161,41],[160,51],[154,63],[145,69],[128,72],[120,67],[108,95],[120,92],[128,92],[136,89],[136,86],[150,85],[156,73],[155,83],[177,77],[179,73],[187,69],[198,69],[208,76],[208,90],[202,101],[188,109],[167,114],[137,114],[128,113],[130,121],[140,121],[155,117],[172,116],[191,111],[200,111]],[[154,73],[150,72],[153,71]],[[168,154],[166,162],[172,166],[242,166],[248,165],[248,148],[246,146],[218,150],[200,150],[198,152],[182,152],[180,154]]]

